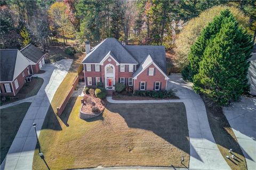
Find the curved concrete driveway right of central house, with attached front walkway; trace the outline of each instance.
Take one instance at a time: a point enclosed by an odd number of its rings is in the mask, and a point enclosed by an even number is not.
[[[213,138],[206,109],[201,97],[192,89],[192,84],[181,79],[180,74],[172,74],[167,88],[175,90],[180,99],[175,100],[113,100],[110,103],[176,103],[183,102],[186,107],[191,169],[230,169]]]

